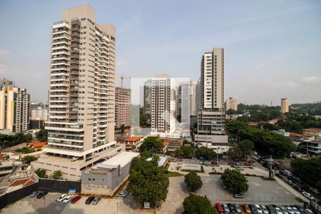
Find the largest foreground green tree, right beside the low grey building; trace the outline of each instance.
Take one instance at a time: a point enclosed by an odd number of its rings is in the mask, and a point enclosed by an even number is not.
[[[127,190],[137,203],[151,203],[152,207],[165,201],[168,193],[169,180],[162,168],[153,158],[146,161],[143,158],[133,158],[129,171]]]

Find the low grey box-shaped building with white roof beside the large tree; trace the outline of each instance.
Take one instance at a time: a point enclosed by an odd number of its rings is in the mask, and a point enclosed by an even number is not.
[[[131,160],[137,156],[139,153],[121,152],[113,158],[83,170],[81,193],[113,195],[128,179]]]

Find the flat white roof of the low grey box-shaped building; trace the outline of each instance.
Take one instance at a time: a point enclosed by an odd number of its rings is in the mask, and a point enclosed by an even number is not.
[[[98,168],[117,168],[118,165],[121,165],[121,168],[123,168],[126,164],[131,162],[131,159],[139,156],[139,153],[133,153],[133,152],[121,152],[117,156],[113,156],[113,158],[110,158],[106,161],[103,161],[102,163],[98,163]]]

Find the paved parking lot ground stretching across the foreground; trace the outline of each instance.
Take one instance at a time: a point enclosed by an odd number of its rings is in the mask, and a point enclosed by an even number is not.
[[[260,203],[287,205],[298,204],[295,196],[275,181],[266,181],[258,177],[248,177],[250,188],[244,194],[244,199],[235,199],[223,188],[220,175],[201,176],[203,187],[196,192],[198,195],[206,195],[212,204],[220,203]],[[82,197],[75,204],[57,203],[56,199],[61,193],[49,193],[45,199],[23,198],[14,204],[0,210],[0,213],[154,213],[153,210],[140,210],[133,201],[131,195],[126,198],[103,198],[98,205],[86,205],[88,197]],[[188,196],[188,190],[184,183],[184,177],[170,178],[168,196],[156,213],[181,213],[183,200]],[[45,210],[46,204],[46,210]]]

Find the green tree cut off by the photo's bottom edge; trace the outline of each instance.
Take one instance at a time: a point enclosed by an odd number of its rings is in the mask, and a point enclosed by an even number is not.
[[[203,196],[191,194],[183,201],[185,214],[215,214],[210,200]]]

